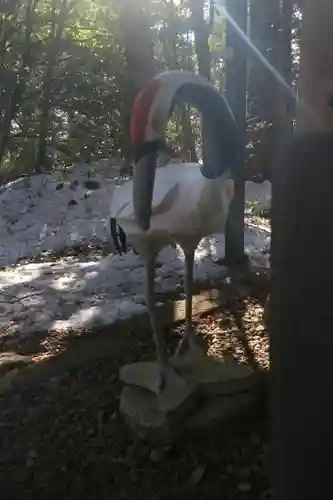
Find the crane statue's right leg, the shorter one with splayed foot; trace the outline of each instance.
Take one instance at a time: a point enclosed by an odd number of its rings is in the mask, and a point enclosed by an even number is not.
[[[193,297],[193,268],[194,268],[195,250],[186,250],[185,253],[185,331],[184,336],[179,342],[175,355],[183,355],[189,347],[196,352],[204,354],[193,328],[192,320],[192,297]]]

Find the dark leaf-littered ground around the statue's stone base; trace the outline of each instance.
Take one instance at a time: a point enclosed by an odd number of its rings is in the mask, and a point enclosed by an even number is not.
[[[268,338],[262,311],[258,299],[239,299],[201,318],[198,331],[211,353],[265,371]],[[169,332],[170,348],[181,330],[179,326]],[[111,338],[112,331],[101,332],[106,334]],[[57,350],[65,349],[66,339],[52,338],[50,346],[55,344]],[[44,345],[43,356],[47,341]],[[118,370],[153,355],[149,332],[116,335],[109,356],[1,395],[1,498],[271,498],[264,411],[204,440],[163,448],[134,439],[118,413]]]

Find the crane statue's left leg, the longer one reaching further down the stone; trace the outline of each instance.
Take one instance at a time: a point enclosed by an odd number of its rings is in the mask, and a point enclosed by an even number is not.
[[[156,344],[156,356],[158,365],[158,376],[156,381],[157,392],[161,393],[165,387],[167,376],[170,373],[170,370],[172,370],[172,368],[168,360],[165,336],[161,331],[157,321],[154,288],[155,288],[155,257],[149,258],[146,261],[146,303],[150,316],[151,328],[153,330],[155,344]]]

